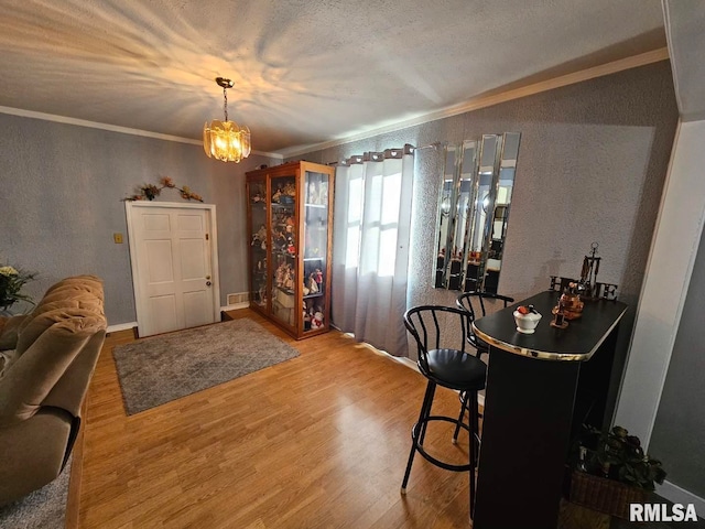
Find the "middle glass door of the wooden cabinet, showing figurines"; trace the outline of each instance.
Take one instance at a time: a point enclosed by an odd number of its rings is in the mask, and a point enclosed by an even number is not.
[[[270,182],[272,315],[295,328],[296,306],[296,176],[274,176]]]

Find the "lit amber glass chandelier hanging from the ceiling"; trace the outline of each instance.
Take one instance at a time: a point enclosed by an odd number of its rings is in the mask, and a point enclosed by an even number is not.
[[[235,83],[224,77],[216,77],[216,83],[223,87],[225,121],[214,119],[210,125],[206,121],[203,127],[203,150],[208,158],[238,163],[250,155],[250,129],[239,127],[235,121],[228,121],[227,89],[232,88]]]

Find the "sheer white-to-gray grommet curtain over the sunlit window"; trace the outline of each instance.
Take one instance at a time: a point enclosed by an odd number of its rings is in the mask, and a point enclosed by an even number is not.
[[[394,356],[409,356],[413,172],[413,147],[404,145],[352,156],[335,176],[333,324]]]

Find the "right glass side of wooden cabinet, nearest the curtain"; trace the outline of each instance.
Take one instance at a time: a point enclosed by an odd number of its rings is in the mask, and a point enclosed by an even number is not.
[[[303,219],[303,317],[304,333],[318,331],[327,325],[325,295],[328,256],[328,193],[327,174],[304,172]]]

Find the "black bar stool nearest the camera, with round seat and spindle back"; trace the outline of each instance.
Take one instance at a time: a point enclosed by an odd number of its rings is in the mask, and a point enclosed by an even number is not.
[[[426,393],[421,404],[419,421],[411,430],[411,453],[404,481],[401,485],[401,493],[406,493],[406,484],[411,474],[411,465],[414,455],[419,452],[425,460],[436,466],[453,472],[469,472],[469,506],[470,518],[475,506],[475,467],[477,465],[477,446],[479,436],[476,424],[477,418],[477,392],[485,388],[485,377],[487,368],[485,363],[475,355],[465,350],[468,330],[468,313],[465,310],[454,306],[423,305],[410,309],[404,314],[404,325],[414,337],[419,348],[419,370],[429,380]],[[452,343],[454,347],[444,347]],[[459,344],[459,348],[457,347]],[[470,418],[465,424],[460,415],[459,419],[432,415],[431,408],[437,386],[462,391],[465,395],[464,409],[470,410]],[[423,447],[426,434],[426,425],[431,421],[446,421],[456,424],[453,442],[457,441],[460,428],[469,434],[468,455],[466,465],[452,465],[430,455]]]

